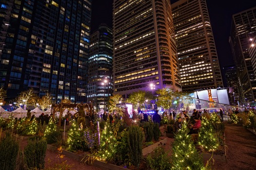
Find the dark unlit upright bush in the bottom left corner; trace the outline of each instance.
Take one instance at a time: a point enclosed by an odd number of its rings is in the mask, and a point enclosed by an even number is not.
[[[0,142],[0,169],[14,170],[19,153],[19,144],[13,140],[10,134]]]

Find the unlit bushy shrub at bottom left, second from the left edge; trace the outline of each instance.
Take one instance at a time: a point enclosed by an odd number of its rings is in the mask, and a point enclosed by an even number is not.
[[[24,149],[24,162],[28,169],[44,169],[47,143],[45,140],[30,140]]]

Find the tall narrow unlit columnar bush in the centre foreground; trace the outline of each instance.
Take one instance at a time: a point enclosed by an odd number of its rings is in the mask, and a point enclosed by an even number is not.
[[[131,126],[127,131],[127,142],[129,147],[129,157],[132,164],[137,168],[142,159],[142,144],[144,142],[144,133],[139,126]]]

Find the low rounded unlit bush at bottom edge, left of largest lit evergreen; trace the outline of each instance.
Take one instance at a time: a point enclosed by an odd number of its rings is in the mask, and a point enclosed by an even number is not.
[[[171,170],[172,164],[168,154],[163,147],[158,146],[146,158],[148,168],[151,170]]]

